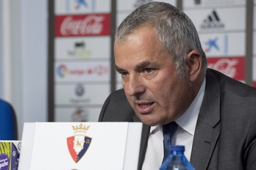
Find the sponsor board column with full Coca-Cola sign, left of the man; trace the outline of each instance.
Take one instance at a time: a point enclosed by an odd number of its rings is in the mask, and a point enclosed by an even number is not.
[[[54,121],[94,122],[110,94],[111,1],[54,1]]]

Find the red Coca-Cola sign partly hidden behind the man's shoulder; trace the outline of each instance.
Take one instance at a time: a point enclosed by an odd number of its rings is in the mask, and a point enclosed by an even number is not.
[[[209,58],[208,68],[218,70],[231,78],[244,79],[244,57]]]

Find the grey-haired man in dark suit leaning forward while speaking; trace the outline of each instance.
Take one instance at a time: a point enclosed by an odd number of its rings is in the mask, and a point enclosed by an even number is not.
[[[163,2],[138,7],[118,26],[114,51],[124,89],[99,121],[143,122],[138,169],[159,169],[170,122],[171,144],[185,145],[196,170],[256,169],[256,90],[207,69],[185,13]]]

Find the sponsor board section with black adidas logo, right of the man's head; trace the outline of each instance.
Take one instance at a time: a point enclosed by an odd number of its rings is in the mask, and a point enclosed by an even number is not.
[[[183,1],[183,10],[199,32],[208,67],[245,81],[246,1]]]

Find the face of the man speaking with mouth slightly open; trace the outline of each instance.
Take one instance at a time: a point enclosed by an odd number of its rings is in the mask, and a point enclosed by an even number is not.
[[[127,100],[143,123],[166,124],[186,111],[190,82],[179,80],[175,62],[160,48],[153,29],[136,30],[124,42],[115,43],[114,50]]]

